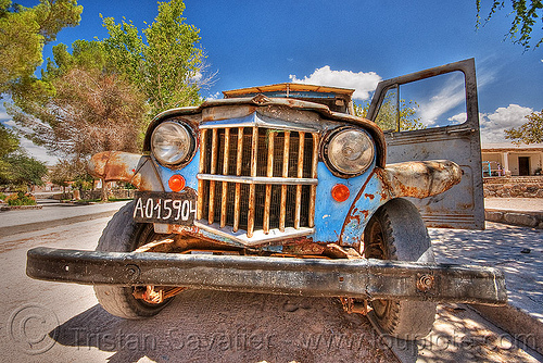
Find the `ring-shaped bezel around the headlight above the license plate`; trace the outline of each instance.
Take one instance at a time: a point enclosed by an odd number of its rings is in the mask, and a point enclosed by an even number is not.
[[[184,152],[185,153],[184,155],[166,159],[157,152],[157,147],[155,145],[156,142],[155,137],[157,137],[156,133],[161,132],[161,129],[164,129],[164,127],[176,127],[178,130],[186,134],[187,141],[189,145],[187,147],[187,151]],[[197,138],[192,127],[190,127],[189,124],[177,120],[167,120],[161,122],[159,125],[156,125],[156,127],[153,128],[150,137],[151,157],[154,160],[156,160],[159,164],[169,168],[181,168],[186,166],[194,157],[197,149],[195,146],[197,146]]]

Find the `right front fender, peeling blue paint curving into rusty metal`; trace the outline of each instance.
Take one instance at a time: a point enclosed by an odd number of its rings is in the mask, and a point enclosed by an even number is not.
[[[460,183],[462,170],[452,161],[412,161],[376,167],[361,188],[348,213],[340,245],[359,249],[363,233],[374,213],[388,201],[427,198],[442,193]]]

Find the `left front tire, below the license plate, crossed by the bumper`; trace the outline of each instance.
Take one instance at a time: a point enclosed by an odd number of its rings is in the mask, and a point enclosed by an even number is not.
[[[97,251],[130,252],[161,236],[154,233],[152,224],[134,222],[134,206],[131,201],[113,215],[98,241]],[[174,299],[149,303],[136,299],[132,292],[134,287],[94,285],[94,295],[102,308],[110,314],[124,318],[138,320],[156,315]]]

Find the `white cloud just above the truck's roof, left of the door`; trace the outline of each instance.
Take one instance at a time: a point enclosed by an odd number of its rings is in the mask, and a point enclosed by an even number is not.
[[[375,72],[332,71],[329,65],[316,68],[310,76],[303,78],[298,78],[293,74],[289,75],[289,78],[295,84],[351,88],[355,90],[353,98],[357,100],[367,100],[382,79]]]

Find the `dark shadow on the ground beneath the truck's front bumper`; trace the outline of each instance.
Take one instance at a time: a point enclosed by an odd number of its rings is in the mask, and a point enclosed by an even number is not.
[[[94,305],[50,335],[112,352],[111,363],[396,361],[369,322],[344,313],[337,299],[188,290],[149,320]]]

